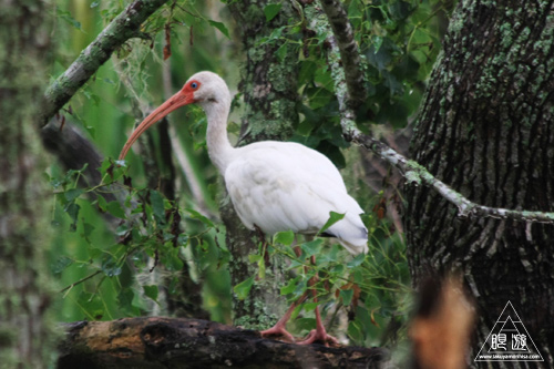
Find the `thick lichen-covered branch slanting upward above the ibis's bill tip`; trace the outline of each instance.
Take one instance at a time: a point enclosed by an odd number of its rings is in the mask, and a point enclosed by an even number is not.
[[[44,93],[40,126],[44,126],[76,91],[129,39],[140,35],[141,24],[167,0],[135,0],[84,49]]]

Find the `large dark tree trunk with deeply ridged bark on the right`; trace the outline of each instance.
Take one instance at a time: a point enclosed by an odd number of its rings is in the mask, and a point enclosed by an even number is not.
[[[554,211],[554,1],[461,1],[431,76],[411,156],[479,204]],[[414,284],[464,275],[478,327],[471,363],[551,367],[554,226],[460,218],[433,189],[406,186]],[[474,362],[511,301],[544,362]],[[507,342],[511,345],[511,342]]]

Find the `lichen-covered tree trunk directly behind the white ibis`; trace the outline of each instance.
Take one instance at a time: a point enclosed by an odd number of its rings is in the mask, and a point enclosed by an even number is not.
[[[263,38],[269,38],[274,30],[298,16],[291,3],[287,2],[283,3],[278,16],[268,22],[264,8],[269,2],[237,1],[229,4],[247,53],[240,86],[246,103],[242,143],[285,140],[293,134],[298,120],[297,53],[289,48],[279,57],[277,51],[286,43],[281,39],[261,42]],[[248,255],[259,254],[259,238],[240,224],[230,202],[222,207],[222,218],[227,228],[227,246],[232,254],[230,279],[233,286],[236,286],[257,274],[257,266],[249,262]],[[286,311],[287,303],[279,291],[286,273],[284,258],[278,255],[271,257],[267,271],[264,279],[255,283],[246,299],[239,300],[234,296],[235,325],[268,328]]]

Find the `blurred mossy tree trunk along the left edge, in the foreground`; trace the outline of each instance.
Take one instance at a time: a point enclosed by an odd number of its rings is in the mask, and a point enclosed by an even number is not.
[[[53,359],[43,250],[48,188],[37,120],[45,83],[47,1],[0,1],[0,362],[48,367]]]

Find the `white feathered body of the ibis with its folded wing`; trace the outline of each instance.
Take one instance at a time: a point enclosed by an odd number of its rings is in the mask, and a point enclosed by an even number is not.
[[[367,238],[359,218],[363,211],[347,194],[338,170],[325,155],[302,145],[266,141],[245,146],[227,167],[225,183],[238,216],[250,229],[256,225],[267,234],[316,233],[332,211],[353,218],[348,222]],[[340,223],[346,226],[346,218],[335,225],[336,233]]]

